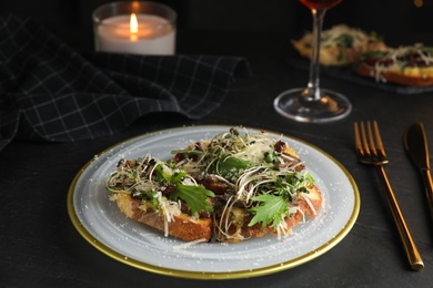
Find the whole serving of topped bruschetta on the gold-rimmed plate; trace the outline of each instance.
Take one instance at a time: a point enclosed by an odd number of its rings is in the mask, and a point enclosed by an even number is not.
[[[304,163],[282,137],[231,128],[172,153],[167,162],[150,155],[121,160],[105,187],[128,217],[188,241],[177,249],[268,233],[282,239],[304,213],[315,217],[322,203]]]

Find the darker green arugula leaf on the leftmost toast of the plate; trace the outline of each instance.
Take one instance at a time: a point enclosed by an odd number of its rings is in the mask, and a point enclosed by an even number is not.
[[[191,213],[195,212],[212,212],[213,207],[208,203],[208,197],[215,197],[213,192],[204,188],[203,185],[200,186],[190,186],[178,183],[174,189],[170,193],[171,200],[178,200],[181,198],[188,204]]]

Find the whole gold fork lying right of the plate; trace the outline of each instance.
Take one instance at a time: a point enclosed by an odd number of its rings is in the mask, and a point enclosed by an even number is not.
[[[394,217],[395,225],[397,226],[400,237],[403,241],[404,250],[411,268],[413,270],[421,270],[424,268],[423,260],[417,251],[416,245],[412,239],[407,225],[403,218],[403,214],[400,210],[399,204],[395,199],[391,184],[387,179],[384,164],[387,163],[385,150],[382,144],[381,134],[379,132],[376,121],[371,123],[366,122],[366,131],[364,122],[360,125],[355,122],[354,125],[355,147],[358,160],[362,164],[373,165],[377,172],[379,179],[385,192],[387,204],[390,205],[392,216]]]

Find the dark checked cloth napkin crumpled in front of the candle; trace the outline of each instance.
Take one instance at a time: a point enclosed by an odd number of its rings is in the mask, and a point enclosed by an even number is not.
[[[151,112],[200,119],[250,73],[235,56],[81,54],[31,19],[0,17],[0,150],[112,135]]]

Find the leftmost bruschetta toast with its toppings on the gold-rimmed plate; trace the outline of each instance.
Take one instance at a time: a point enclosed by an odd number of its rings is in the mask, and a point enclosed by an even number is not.
[[[183,171],[150,155],[121,160],[105,187],[131,219],[185,241],[211,238],[214,194]]]

